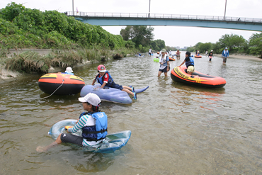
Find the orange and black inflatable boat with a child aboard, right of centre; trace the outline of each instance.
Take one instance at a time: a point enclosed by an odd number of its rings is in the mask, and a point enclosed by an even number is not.
[[[226,85],[226,80],[222,77],[215,77],[200,72],[193,72],[193,77],[186,73],[186,67],[175,67],[171,70],[171,79],[190,85],[205,86],[209,88],[220,88]]]

